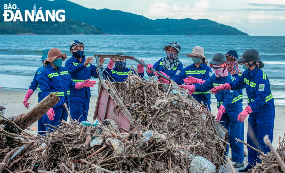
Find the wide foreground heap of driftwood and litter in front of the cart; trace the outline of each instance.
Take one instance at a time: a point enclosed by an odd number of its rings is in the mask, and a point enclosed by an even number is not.
[[[62,122],[46,137],[23,146],[3,172],[187,172],[191,157],[170,142],[170,136],[154,133],[149,139],[138,129],[118,132],[118,127],[81,126]],[[146,140],[147,139],[147,140]],[[19,147],[11,150],[17,151]],[[5,158],[10,158],[5,156]],[[4,160],[5,160],[4,158]],[[2,160],[3,163],[3,160]]]

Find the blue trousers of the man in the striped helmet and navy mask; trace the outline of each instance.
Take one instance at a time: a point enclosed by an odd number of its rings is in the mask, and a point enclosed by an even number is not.
[[[89,111],[90,97],[70,97],[70,116],[74,120],[86,121]]]

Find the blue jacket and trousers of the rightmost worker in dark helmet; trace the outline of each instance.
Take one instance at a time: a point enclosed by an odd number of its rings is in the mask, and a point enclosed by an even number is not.
[[[261,69],[255,67],[252,71],[245,70],[238,81],[229,84],[232,90],[246,88],[247,105],[252,109],[252,113],[248,117],[247,144],[263,151],[265,154],[268,153],[270,148],[264,143],[263,137],[268,135],[272,141],[275,119],[274,99],[268,77]],[[259,146],[256,146],[256,140]],[[250,165],[256,165],[256,161],[261,161],[257,157],[257,151],[249,147],[247,149],[247,158]],[[250,165],[247,165],[246,168],[251,169]]]

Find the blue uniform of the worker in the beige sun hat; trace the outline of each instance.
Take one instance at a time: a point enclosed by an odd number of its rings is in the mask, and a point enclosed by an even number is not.
[[[177,77],[170,77],[174,82],[176,82],[179,85],[184,84],[184,79],[188,78],[187,76],[192,76],[197,79],[207,80],[209,77],[212,76],[212,70],[209,66],[206,64],[201,64],[198,68],[193,63],[190,66],[187,66],[181,72]],[[206,92],[195,92],[192,94],[192,96],[197,100],[197,102],[202,103],[203,101],[205,107],[209,107],[209,110],[211,110],[211,93],[210,91]]]

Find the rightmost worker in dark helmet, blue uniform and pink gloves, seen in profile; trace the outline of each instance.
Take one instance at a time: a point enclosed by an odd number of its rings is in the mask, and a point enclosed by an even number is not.
[[[246,50],[236,62],[243,65],[245,69],[239,80],[216,86],[211,92],[217,94],[224,90],[238,91],[246,88],[247,107],[238,115],[237,120],[243,122],[247,115],[249,115],[247,144],[254,148],[259,148],[259,150],[266,154],[270,151],[270,148],[264,143],[263,137],[268,135],[272,141],[275,119],[275,105],[270,90],[270,82],[266,74],[261,70],[264,64],[257,50]],[[257,146],[257,143],[259,146]],[[238,172],[247,172],[252,166],[256,165],[256,162],[261,161],[258,158],[257,151],[249,147],[247,149],[249,165]]]

